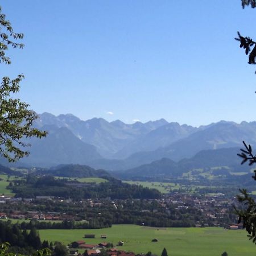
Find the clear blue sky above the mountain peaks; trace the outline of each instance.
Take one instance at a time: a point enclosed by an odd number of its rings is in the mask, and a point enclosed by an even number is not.
[[[132,123],[256,120],[256,66],[234,40],[256,40],[240,0],[2,0],[24,49],[2,76],[38,113]]]

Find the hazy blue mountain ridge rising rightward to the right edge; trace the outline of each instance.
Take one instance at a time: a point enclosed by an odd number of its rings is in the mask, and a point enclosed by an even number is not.
[[[198,129],[195,133],[179,139],[167,147],[158,148],[153,152],[138,152],[133,155],[133,158],[158,156],[158,159],[170,158],[179,161],[183,158],[191,158],[201,150],[241,147],[242,141],[252,145],[256,144],[256,122],[238,124],[220,121]]]

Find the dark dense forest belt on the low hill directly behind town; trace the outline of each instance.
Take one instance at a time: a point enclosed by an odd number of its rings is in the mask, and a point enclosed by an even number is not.
[[[122,183],[113,178],[109,179],[109,182],[97,185],[55,179],[52,176],[28,175],[26,180],[12,181],[9,188],[16,194],[16,197],[23,198],[57,196],[79,200],[106,197],[111,199],[159,199],[161,197],[161,193],[156,189]]]

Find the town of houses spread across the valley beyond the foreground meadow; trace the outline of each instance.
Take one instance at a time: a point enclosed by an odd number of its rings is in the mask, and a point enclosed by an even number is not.
[[[111,199],[85,199],[79,202],[72,201],[71,199],[59,199],[52,196],[38,196],[36,199],[18,199],[1,196],[0,203],[2,202],[10,204],[20,203],[21,201],[28,205],[28,208],[33,208],[34,205],[39,204],[39,201],[51,200],[52,202],[60,203],[61,201],[65,201],[67,204],[76,204],[80,203],[83,207],[92,207],[92,208],[101,208],[102,205],[108,204],[108,207],[122,207],[122,200],[111,200]],[[136,200],[136,199],[134,199]],[[174,206],[177,210],[189,210],[191,208],[198,209],[204,216],[204,226],[226,226],[232,223],[236,223],[236,220],[228,220],[226,218],[229,215],[230,211],[233,210],[233,204],[236,199],[233,197],[227,197],[223,193],[209,194],[209,195],[194,195],[193,193],[188,194],[185,192],[170,192],[167,195],[164,195],[162,199],[157,200],[146,200],[147,203],[152,203],[153,201],[158,201],[158,203],[166,209],[168,214],[171,214],[169,208],[170,205]],[[30,205],[32,207],[30,207]],[[13,207],[11,207],[13,208]],[[142,209],[141,212],[150,212],[149,209]],[[158,209],[154,209],[153,212],[158,212]],[[98,213],[101,214],[100,212]],[[75,220],[80,221],[81,216],[77,216],[74,214],[73,216],[63,213],[63,212],[38,212],[38,211],[13,211],[11,213],[0,212],[0,218],[15,218],[15,219],[34,219],[34,220],[45,220],[45,221],[64,221],[64,220]],[[202,223],[196,223],[196,226],[200,226]]]

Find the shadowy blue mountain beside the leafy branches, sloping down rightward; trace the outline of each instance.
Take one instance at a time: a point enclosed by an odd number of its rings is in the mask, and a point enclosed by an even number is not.
[[[43,126],[48,131],[46,138],[32,138],[28,158],[20,160],[31,166],[51,167],[58,164],[86,164],[102,158],[96,147],[82,142],[67,127]]]

